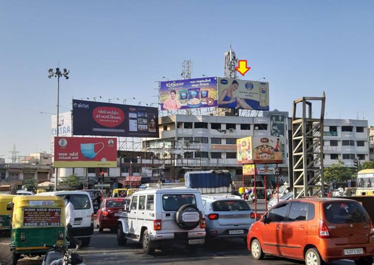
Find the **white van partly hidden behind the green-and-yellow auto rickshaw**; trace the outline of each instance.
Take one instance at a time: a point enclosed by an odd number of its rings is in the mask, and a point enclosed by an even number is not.
[[[74,205],[75,220],[72,227],[72,234],[82,241],[82,246],[90,245],[93,235],[93,204],[91,196],[86,191],[52,191],[43,192],[40,196],[70,196],[70,202]]]

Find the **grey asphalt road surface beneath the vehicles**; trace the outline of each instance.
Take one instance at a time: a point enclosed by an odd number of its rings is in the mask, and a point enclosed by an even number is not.
[[[260,202],[259,212],[263,212],[264,204]],[[251,208],[252,205],[251,205]],[[9,237],[0,237],[0,262],[9,265]],[[168,252],[156,250],[154,255],[144,254],[141,245],[128,241],[126,246],[118,246],[116,235],[109,230],[99,233],[95,229],[89,247],[80,249],[87,265],[118,265],[118,264],[165,264],[165,265],[227,265],[250,263],[253,265],[300,265],[298,261],[266,256],[265,260],[252,259],[243,240],[218,240],[214,246],[202,247],[196,254],[189,254],[184,248],[176,247]],[[40,265],[41,258],[25,258],[19,265]],[[335,265],[354,265],[351,262],[336,262]]]

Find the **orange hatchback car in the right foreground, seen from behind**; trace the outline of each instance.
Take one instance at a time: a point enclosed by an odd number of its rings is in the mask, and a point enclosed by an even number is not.
[[[279,203],[252,225],[247,243],[257,260],[271,254],[305,260],[307,265],[342,259],[373,264],[373,226],[354,200],[302,198]]]

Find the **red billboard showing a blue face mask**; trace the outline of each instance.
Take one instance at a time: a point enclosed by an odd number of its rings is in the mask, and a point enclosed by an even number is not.
[[[55,168],[116,168],[117,138],[55,137]]]

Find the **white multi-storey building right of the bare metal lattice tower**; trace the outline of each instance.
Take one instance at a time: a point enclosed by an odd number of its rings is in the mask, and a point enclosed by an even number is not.
[[[325,119],[323,136],[323,165],[329,167],[342,161],[354,168],[355,160],[369,160],[367,120]]]

